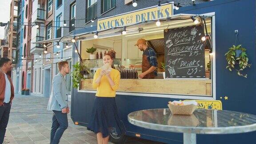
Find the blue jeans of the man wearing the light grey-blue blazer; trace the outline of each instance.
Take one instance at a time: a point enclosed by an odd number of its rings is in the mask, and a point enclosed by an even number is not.
[[[68,128],[68,114],[53,111],[50,144],[59,144],[60,138]]]

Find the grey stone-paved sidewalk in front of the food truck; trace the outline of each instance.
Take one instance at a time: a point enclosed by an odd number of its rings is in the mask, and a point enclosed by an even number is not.
[[[48,98],[16,94],[4,144],[49,144],[52,112],[46,110],[47,104]],[[68,129],[64,132],[60,144],[97,144],[96,134],[88,131],[86,127],[73,124],[68,114]],[[129,138],[126,144],[158,143]]]

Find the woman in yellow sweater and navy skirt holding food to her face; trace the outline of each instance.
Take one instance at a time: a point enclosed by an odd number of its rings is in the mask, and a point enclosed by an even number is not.
[[[103,60],[104,64],[113,63],[113,58],[108,53]],[[97,89],[97,93],[87,129],[97,133],[98,144],[108,144],[109,133],[112,131],[121,134],[115,100],[119,82],[120,72],[114,68],[99,68],[93,77],[92,87]]]

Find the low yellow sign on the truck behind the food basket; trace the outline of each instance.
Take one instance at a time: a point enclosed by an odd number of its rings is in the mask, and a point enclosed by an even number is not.
[[[192,101],[192,100],[184,100]],[[193,100],[198,103],[197,108],[203,109],[218,109],[222,110],[222,102],[220,100]]]

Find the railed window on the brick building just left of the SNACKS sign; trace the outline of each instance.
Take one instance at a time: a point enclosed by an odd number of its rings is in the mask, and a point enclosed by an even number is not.
[[[97,0],[88,0],[85,23],[97,17]]]

